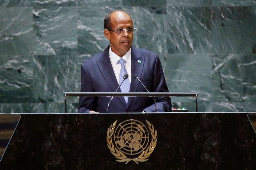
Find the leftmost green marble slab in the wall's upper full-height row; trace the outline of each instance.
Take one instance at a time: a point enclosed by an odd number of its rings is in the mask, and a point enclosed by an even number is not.
[[[0,8],[0,55],[29,55],[34,50],[32,8]]]

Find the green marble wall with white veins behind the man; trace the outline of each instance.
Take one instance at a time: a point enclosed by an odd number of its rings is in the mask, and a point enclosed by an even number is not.
[[[170,92],[198,92],[199,111],[256,111],[256,0],[0,0],[0,112],[64,112],[113,10],[133,18],[133,45],[159,54]]]

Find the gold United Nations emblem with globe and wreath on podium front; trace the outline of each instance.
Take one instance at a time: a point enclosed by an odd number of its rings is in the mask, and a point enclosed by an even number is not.
[[[117,120],[107,130],[107,145],[117,162],[145,162],[157,145],[157,130],[147,121],[130,119],[116,127]],[[148,131],[149,129],[149,131]],[[151,137],[150,137],[151,136]]]

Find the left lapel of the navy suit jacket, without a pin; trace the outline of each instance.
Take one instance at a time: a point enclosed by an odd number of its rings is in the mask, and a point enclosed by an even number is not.
[[[111,61],[109,59],[109,46],[103,51],[103,54],[101,55],[100,60],[97,61],[97,65],[104,79],[106,80],[108,85],[111,87],[113,92],[115,92],[119,84],[116,80],[115,73],[114,73]],[[120,88],[117,92],[121,92]],[[118,97],[118,98],[126,105],[124,97]]]

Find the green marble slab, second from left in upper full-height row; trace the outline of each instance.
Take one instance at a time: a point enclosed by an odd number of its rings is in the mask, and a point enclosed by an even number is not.
[[[34,8],[34,55],[77,55],[77,8]]]

